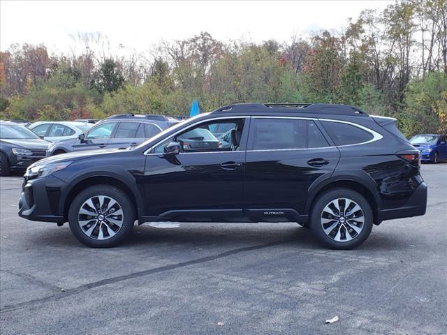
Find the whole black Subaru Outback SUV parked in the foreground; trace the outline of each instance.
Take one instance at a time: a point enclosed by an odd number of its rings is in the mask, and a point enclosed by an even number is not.
[[[229,147],[186,145],[216,124],[231,124]],[[349,105],[228,105],[138,147],[31,165],[19,215],[68,221],[92,247],[117,245],[135,220],[296,221],[323,245],[349,249],[373,224],[425,214],[419,155],[395,119]]]

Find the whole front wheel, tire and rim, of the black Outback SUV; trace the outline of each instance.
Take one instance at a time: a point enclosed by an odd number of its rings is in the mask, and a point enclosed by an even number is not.
[[[91,186],[79,193],[68,212],[70,229],[87,246],[116,246],[132,231],[135,212],[129,197],[110,185]]]

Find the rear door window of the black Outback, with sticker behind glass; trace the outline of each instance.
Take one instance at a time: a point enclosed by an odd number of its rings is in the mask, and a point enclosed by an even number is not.
[[[302,119],[255,119],[250,131],[254,150],[328,147],[314,121]]]

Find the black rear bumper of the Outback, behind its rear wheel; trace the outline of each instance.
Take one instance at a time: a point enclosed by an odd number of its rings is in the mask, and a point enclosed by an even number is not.
[[[402,207],[379,211],[379,223],[393,218],[421,216],[427,210],[427,185],[420,183]]]

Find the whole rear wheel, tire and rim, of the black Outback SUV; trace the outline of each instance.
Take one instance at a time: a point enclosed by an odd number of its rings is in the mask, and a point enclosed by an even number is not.
[[[372,230],[372,210],[360,193],[338,188],[323,193],[311,214],[311,229],[324,246],[352,249],[360,246]]]

